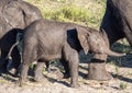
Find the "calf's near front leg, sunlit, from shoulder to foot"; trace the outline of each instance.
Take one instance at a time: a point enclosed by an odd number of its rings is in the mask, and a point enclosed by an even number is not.
[[[65,44],[63,47],[62,57],[68,61],[70,72],[70,86],[79,88],[78,84],[78,68],[79,68],[79,56],[77,50],[73,49],[69,44]]]

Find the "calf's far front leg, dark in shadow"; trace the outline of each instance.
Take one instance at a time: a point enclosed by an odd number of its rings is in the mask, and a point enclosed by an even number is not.
[[[68,61],[66,61],[65,59],[61,59],[59,60],[64,67],[64,79],[67,79],[70,77],[70,73],[69,73],[69,66],[68,66]]]

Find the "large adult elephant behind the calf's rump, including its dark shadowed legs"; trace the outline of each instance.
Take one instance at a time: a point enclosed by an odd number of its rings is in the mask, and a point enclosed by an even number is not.
[[[0,70],[6,71],[6,57],[15,43],[16,33],[35,20],[42,19],[40,10],[22,0],[0,0]],[[20,54],[16,47],[12,54],[13,67],[20,65]],[[6,61],[4,61],[6,60]]]

